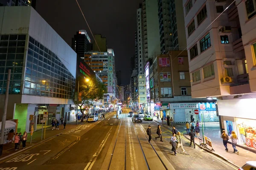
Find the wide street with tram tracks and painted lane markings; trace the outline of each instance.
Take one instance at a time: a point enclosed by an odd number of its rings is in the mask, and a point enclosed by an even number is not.
[[[178,149],[171,153],[171,129],[161,127],[163,141],[154,139],[157,123],[131,122],[130,110],[116,119],[115,113],[104,120],[85,123],[55,136],[46,142],[0,161],[0,170],[185,170],[237,169],[233,165],[189,146],[183,139],[187,154]],[[145,130],[151,125],[152,140],[147,142]],[[184,131],[183,128],[178,128]]]

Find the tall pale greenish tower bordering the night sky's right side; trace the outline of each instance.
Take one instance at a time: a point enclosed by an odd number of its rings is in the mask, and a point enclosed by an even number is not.
[[[158,6],[157,0],[143,0],[141,12],[141,38],[143,55],[143,69],[145,68],[148,58],[153,60],[160,52],[160,35],[159,35],[159,22],[158,22]]]

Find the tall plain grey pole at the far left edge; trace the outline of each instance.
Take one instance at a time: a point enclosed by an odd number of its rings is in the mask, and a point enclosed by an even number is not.
[[[11,69],[8,69],[6,96],[5,96],[5,99],[4,99],[4,108],[3,108],[2,126],[1,126],[1,136],[0,136],[0,155],[2,155],[2,152],[3,152],[3,139],[4,139],[4,130],[5,130],[5,122],[6,122],[8,97],[9,97],[10,78],[11,78]]]

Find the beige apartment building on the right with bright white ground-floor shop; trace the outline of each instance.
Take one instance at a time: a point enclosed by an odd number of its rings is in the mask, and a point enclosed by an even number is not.
[[[239,134],[238,144],[251,149],[246,141],[253,138],[247,129],[256,125],[255,4],[183,0],[192,97],[217,97],[221,129],[232,127]]]

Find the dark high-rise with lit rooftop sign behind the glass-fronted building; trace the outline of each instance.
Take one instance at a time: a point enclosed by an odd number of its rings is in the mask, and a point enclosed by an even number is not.
[[[87,52],[87,45],[90,44],[90,37],[85,30],[79,30],[72,38],[72,45],[74,51],[80,58],[84,58],[84,53]]]

